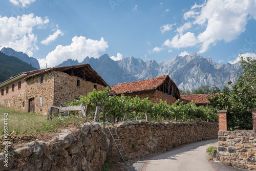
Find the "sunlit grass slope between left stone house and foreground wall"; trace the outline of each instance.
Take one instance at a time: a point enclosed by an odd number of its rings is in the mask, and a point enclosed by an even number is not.
[[[46,116],[34,113],[15,111],[10,108],[0,106],[0,135],[4,133],[4,113],[8,113],[8,133],[18,134],[40,134],[56,133],[60,129],[65,129],[69,125],[79,126],[81,123],[89,121],[90,118],[75,115],[65,117],[55,117],[46,120]]]

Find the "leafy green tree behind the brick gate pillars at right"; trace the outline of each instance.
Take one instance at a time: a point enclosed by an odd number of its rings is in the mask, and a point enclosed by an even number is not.
[[[213,95],[209,99],[212,107],[227,110],[229,130],[250,130],[252,116],[250,109],[256,106],[256,60],[240,56],[241,68],[237,82],[230,91],[230,96]]]

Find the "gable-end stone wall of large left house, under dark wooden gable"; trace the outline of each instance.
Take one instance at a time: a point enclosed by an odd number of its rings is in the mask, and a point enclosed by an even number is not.
[[[80,95],[86,96],[92,92],[94,85],[97,90],[105,90],[101,84],[83,80],[80,77],[71,76],[67,73],[55,71],[54,75],[54,106],[65,106],[65,102],[72,102]],[[76,86],[76,80],[80,80],[80,87]]]

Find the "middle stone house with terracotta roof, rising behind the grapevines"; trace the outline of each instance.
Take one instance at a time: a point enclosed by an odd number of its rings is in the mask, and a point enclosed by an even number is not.
[[[111,95],[121,95],[148,100],[156,103],[162,99],[169,105],[180,99],[180,91],[168,75],[135,82],[124,82],[111,87]]]

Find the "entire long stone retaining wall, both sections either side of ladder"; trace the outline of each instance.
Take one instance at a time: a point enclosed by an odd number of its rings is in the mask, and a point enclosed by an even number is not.
[[[217,123],[131,121],[115,125],[130,159],[166,152],[181,144],[217,138]],[[97,122],[62,130],[48,141],[8,142],[12,170],[102,170],[106,158],[121,161],[110,133]],[[0,153],[0,171],[5,153]]]

